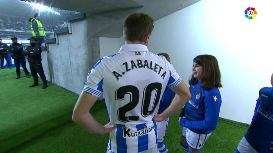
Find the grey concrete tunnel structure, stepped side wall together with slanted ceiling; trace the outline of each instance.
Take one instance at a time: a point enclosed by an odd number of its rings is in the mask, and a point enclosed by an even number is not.
[[[67,16],[67,27],[54,30],[42,52],[46,78],[79,94],[87,72],[104,55],[100,40],[119,38],[123,45],[123,23],[134,12],[149,14],[155,21],[200,0],[36,0],[54,8],[80,12]],[[104,44],[109,45],[109,44]],[[28,65],[28,64],[27,64]],[[71,82],[71,83],[67,83]]]

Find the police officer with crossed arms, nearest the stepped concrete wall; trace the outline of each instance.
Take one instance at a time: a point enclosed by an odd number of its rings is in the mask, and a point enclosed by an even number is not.
[[[46,81],[46,76],[44,75],[44,69],[42,66],[42,59],[41,59],[42,49],[37,44],[37,38],[30,37],[28,38],[28,40],[30,40],[30,46],[28,46],[27,50],[24,51],[23,54],[28,56],[27,59],[29,63],[29,68],[34,80],[34,83],[30,85],[29,87],[34,87],[39,85],[38,75],[37,75],[38,73],[44,83],[42,86],[42,89],[46,89],[47,81]]]

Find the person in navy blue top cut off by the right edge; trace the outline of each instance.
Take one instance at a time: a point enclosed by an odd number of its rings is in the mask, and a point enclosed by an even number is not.
[[[273,86],[273,74],[271,76]],[[273,151],[273,88],[259,91],[255,113],[245,137],[240,141],[236,153],[272,153]]]

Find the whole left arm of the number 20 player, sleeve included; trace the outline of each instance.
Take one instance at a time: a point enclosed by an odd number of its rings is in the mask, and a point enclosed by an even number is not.
[[[103,83],[100,83],[103,82],[103,73],[104,67],[99,61],[88,73],[87,82],[85,82],[85,86],[76,102],[72,115],[72,120],[75,123],[91,133],[98,134],[109,133],[116,128],[116,125],[111,125],[111,123],[105,126],[100,125],[89,113],[90,108],[103,93]]]

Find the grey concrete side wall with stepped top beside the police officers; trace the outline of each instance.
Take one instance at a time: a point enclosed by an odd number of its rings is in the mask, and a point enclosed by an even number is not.
[[[71,34],[58,35],[58,44],[48,44],[43,66],[48,80],[79,94],[87,73],[99,59],[99,38],[87,34],[87,20],[71,23]],[[47,68],[46,68],[47,67]]]

